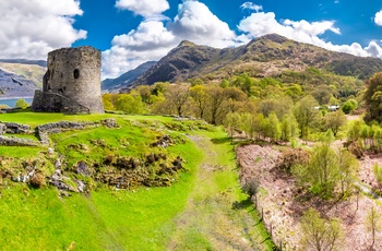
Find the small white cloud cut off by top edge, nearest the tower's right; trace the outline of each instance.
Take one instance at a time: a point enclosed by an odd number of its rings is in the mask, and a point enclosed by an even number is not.
[[[146,19],[160,16],[162,12],[170,8],[167,0],[117,0],[116,7]]]

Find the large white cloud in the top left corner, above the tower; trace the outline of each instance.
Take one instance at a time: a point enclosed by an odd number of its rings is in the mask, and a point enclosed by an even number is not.
[[[46,59],[47,52],[85,38],[73,28],[82,15],[76,0],[13,0],[0,2],[0,58]]]

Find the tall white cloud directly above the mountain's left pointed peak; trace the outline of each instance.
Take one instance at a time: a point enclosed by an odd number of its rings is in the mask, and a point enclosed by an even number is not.
[[[198,1],[179,4],[178,15],[168,28],[178,37],[195,44],[213,47],[234,46],[236,35],[227,23],[220,21],[210,9]]]

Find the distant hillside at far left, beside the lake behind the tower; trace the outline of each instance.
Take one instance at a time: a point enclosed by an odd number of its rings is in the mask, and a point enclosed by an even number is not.
[[[0,59],[0,97],[31,97],[43,86],[46,61]]]

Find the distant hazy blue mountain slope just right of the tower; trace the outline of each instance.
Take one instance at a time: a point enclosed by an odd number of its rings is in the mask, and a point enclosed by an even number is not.
[[[148,61],[142,63],[134,70],[128,71],[117,79],[106,79],[102,82],[100,86],[103,89],[117,91],[121,87],[128,87],[138,76],[146,72],[151,67],[153,67],[156,61]]]

